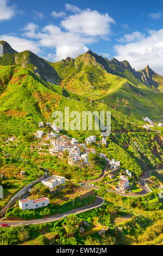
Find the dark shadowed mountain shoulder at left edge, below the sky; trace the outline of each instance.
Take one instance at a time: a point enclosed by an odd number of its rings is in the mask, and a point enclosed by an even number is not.
[[[18,53],[5,41],[0,41],[0,65],[22,66],[32,70],[45,81],[54,84],[60,82],[57,72],[45,59],[38,57],[30,51]]]

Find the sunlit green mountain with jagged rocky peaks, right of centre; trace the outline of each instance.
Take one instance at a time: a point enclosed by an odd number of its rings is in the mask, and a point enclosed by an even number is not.
[[[108,60],[90,50],[77,58],[50,63],[61,77],[60,86],[103,102],[131,118],[163,117],[163,77],[147,66],[135,71],[129,62]]]

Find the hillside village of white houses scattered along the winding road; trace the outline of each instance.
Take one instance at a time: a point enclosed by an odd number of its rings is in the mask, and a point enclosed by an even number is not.
[[[115,176],[118,175],[117,185],[115,187],[115,191],[119,193],[126,193],[129,188],[132,186],[131,184],[131,172],[129,170],[126,170],[125,175],[124,173],[120,172],[120,161],[117,161],[115,159],[107,159],[106,155],[103,153],[97,153],[95,148],[93,148],[93,145],[97,145],[97,147],[101,148],[102,145],[104,147],[107,147],[108,141],[106,137],[102,137],[101,141],[96,141],[96,136],[91,135],[87,138],[85,138],[84,143],[79,143],[76,138],[70,138],[67,135],[62,135],[58,129],[57,126],[51,124],[51,123],[43,123],[40,122],[38,124],[40,130],[37,130],[34,133],[35,139],[37,143],[32,143],[30,145],[30,150],[38,150],[38,153],[40,155],[51,155],[51,156],[57,156],[59,159],[62,159],[64,157],[67,158],[67,163],[70,166],[89,166],[89,155],[90,154],[96,154],[102,159],[106,161],[106,165],[108,164],[108,167],[103,172],[103,176],[106,178],[108,177],[110,180],[114,180]],[[48,127],[48,132],[43,131],[44,127]],[[15,142],[16,137],[9,137],[6,142],[12,143]],[[26,175],[25,172],[21,172],[21,175]],[[98,180],[98,179],[97,179]],[[92,180],[95,181],[95,180]],[[59,176],[59,175],[48,175],[46,179],[43,179],[40,181],[40,184],[44,187],[47,187],[49,192],[52,192],[60,187],[60,185],[64,185],[66,182],[65,176]],[[83,181],[84,182],[84,181]],[[89,181],[91,182],[91,180]],[[110,182],[108,182],[109,184]],[[80,182],[80,187],[83,185],[82,182]],[[93,187],[93,182],[90,184]],[[83,187],[84,189],[84,187]],[[34,199],[31,199],[31,195],[33,193],[33,190],[35,190],[35,187],[32,186],[28,190],[28,197],[27,198],[19,198],[18,200],[18,206],[22,210],[27,209],[36,209],[41,208],[43,206],[47,206],[51,199],[47,197],[38,197]],[[46,190],[45,190],[46,191]],[[0,198],[3,198],[3,187],[0,187]]]

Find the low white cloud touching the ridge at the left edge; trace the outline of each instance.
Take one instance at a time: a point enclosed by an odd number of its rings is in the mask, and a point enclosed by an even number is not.
[[[32,40],[19,38],[13,35],[0,35],[0,40],[7,41],[17,52],[23,52],[26,50],[32,51],[36,54],[40,52],[39,46],[37,46],[37,43]]]

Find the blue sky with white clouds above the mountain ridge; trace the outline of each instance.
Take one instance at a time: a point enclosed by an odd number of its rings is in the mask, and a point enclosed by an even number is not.
[[[163,75],[163,1],[0,0],[0,40],[51,62],[90,49]]]

